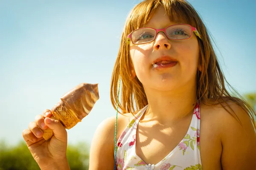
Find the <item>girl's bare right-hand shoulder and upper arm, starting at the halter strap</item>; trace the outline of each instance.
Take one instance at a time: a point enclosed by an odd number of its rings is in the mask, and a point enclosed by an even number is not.
[[[224,169],[254,168],[256,133],[247,109],[224,99],[221,104],[203,105],[202,118],[214,127],[221,140]],[[204,114],[204,115],[203,115]],[[204,120],[202,120],[203,122]],[[253,163],[254,162],[254,163]]]

